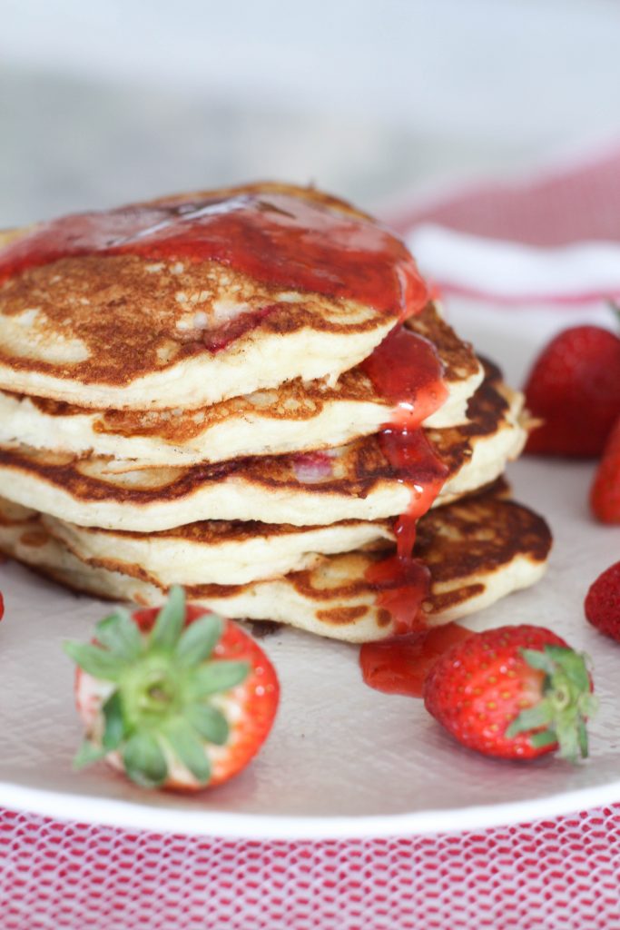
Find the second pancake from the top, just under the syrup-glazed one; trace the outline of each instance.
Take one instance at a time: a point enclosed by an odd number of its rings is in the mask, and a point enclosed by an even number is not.
[[[407,326],[429,339],[443,366],[448,397],[425,420],[435,429],[467,419],[482,369],[468,343],[429,304]],[[110,471],[187,467],[255,455],[345,445],[377,432],[393,416],[363,366],[328,380],[296,379],[199,410],[88,410],[45,398],[0,392],[0,445],[111,457]]]

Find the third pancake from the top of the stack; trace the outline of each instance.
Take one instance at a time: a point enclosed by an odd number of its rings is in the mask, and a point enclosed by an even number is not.
[[[84,526],[151,533],[201,520],[324,525],[381,520],[409,509],[410,485],[442,477],[440,506],[487,485],[519,455],[522,396],[488,366],[469,421],[429,431],[437,458],[408,473],[390,464],[377,436],[323,452],[236,459],[191,469],[110,473],[104,459],[0,448],[0,487],[25,507]],[[407,482],[409,484],[407,484]]]

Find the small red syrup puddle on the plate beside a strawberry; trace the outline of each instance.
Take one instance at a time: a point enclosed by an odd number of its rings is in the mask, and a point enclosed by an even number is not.
[[[384,694],[422,697],[424,682],[437,659],[475,635],[457,623],[447,623],[380,643],[364,643],[360,651],[363,680]]]

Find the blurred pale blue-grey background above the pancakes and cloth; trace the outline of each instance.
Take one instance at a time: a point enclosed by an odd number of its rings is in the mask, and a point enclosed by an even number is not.
[[[616,0],[0,10],[0,226],[260,178],[387,215],[620,139]]]

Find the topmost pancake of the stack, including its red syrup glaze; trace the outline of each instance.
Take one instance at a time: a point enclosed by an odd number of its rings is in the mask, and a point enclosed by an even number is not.
[[[337,376],[426,299],[400,239],[311,188],[80,214],[0,249],[0,389],[99,410],[217,404]]]

